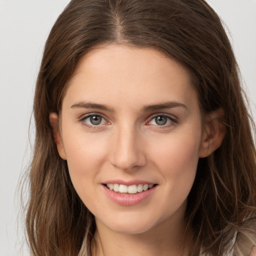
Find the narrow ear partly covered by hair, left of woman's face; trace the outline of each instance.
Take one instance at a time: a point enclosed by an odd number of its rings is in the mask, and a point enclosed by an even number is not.
[[[59,117],[57,113],[51,112],[49,114],[49,120],[50,120],[50,125],[52,127],[53,137],[54,137],[55,144],[57,146],[58,154],[62,159],[66,160],[66,154],[65,154],[64,145],[63,145],[61,132],[59,128]]]

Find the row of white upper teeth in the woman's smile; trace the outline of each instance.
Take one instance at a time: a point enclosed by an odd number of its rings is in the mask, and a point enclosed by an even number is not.
[[[123,184],[115,183],[115,184],[106,184],[106,186],[110,190],[114,190],[115,192],[135,194],[137,192],[142,192],[142,191],[152,188],[153,184],[138,184],[138,185],[134,184],[134,185],[126,186]]]

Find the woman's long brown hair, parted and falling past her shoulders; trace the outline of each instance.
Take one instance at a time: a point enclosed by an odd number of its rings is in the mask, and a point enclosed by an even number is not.
[[[59,15],[45,44],[34,96],[26,215],[32,255],[90,255],[94,217],[58,155],[49,113],[60,111],[81,56],[111,42],[174,57],[191,71],[202,117],[224,110],[226,135],[217,150],[199,159],[186,212],[194,231],[190,255],[224,255],[236,232],[244,231],[242,221],[255,216],[255,147],[232,48],[204,0],[71,0]]]

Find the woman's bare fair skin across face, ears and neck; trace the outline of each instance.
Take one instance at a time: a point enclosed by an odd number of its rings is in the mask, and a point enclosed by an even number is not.
[[[145,108],[165,102],[171,107]],[[88,114],[101,122],[93,125]],[[202,125],[189,71],[154,49],[108,44],[80,60],[50,122],[74,188],[95,216],[93,255],[188,255],[189,232],[181,243],[186,198],[198,158],[221,144],[221,115],[210,113]],[[122,206],[102,189],[116,178],[157,187],[142,202]]]

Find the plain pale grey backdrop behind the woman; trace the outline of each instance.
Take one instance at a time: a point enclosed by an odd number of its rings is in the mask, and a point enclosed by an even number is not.
[[[0,256],[28,255],[20,219],[21,173],[43,45],[69,0],[0,0]],[[256,116],[256,0],[208,0],[225,22]],[[255,119],[255,118],[254,118]],[[30,127],[33,142],[33,122]]]

